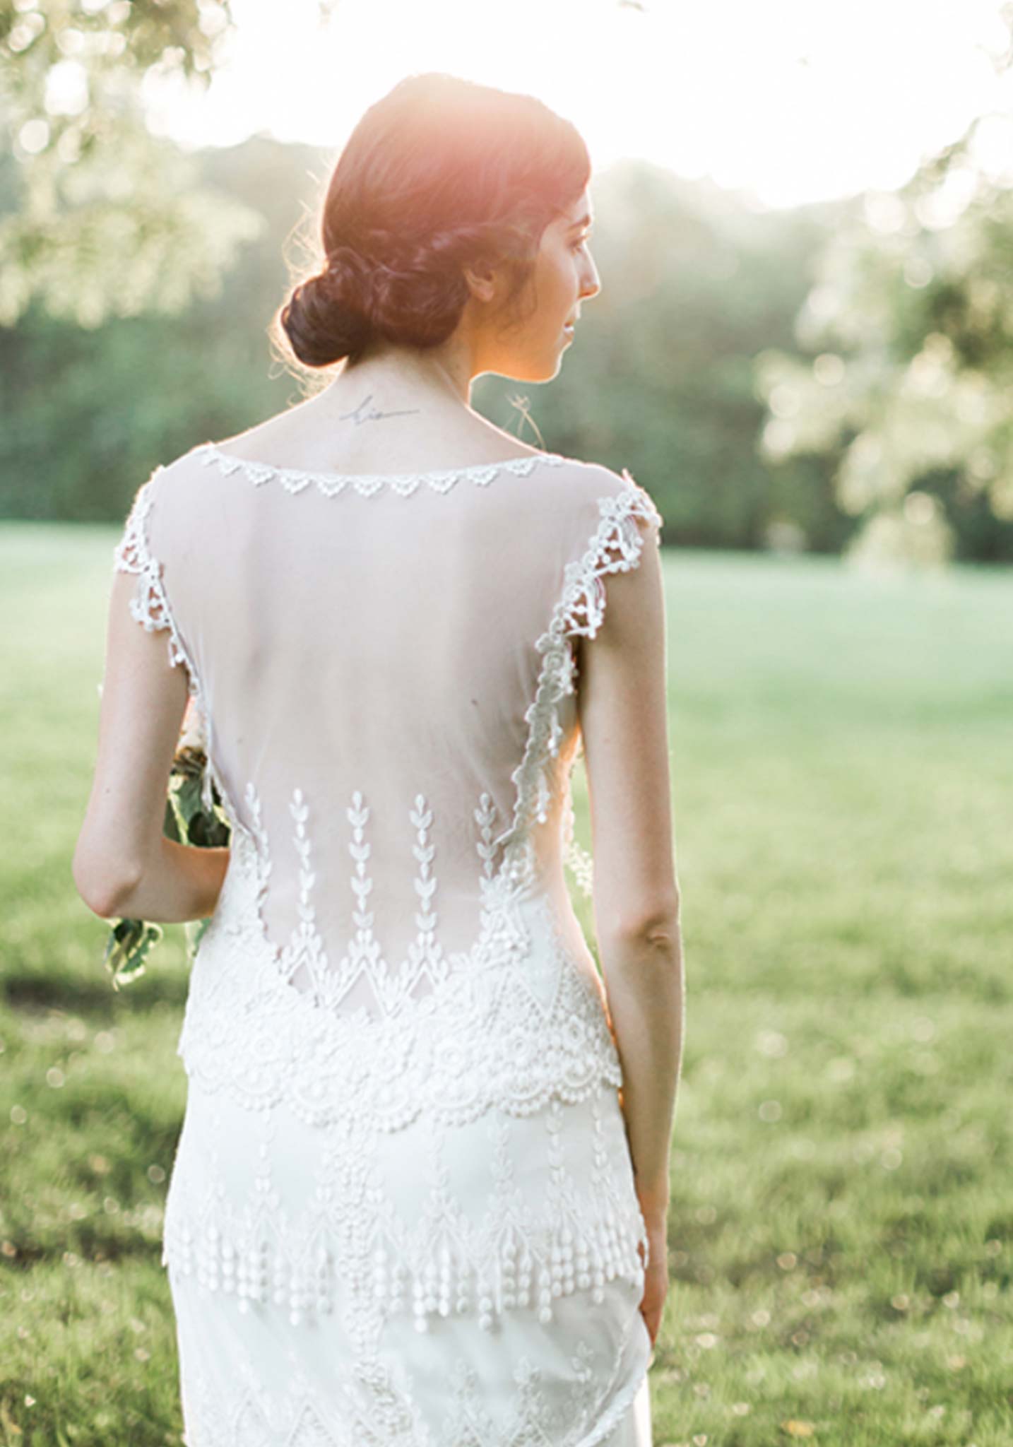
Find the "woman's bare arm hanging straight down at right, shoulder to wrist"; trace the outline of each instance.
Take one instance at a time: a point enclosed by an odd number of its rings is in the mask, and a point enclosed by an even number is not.
[[[595,929],[622,1065],[622,1110],[641,1205],[664,1211],[682,1069],[684,981],[669,776],[664,589],[657,531],[605,579],[579,657],[595,857]]]

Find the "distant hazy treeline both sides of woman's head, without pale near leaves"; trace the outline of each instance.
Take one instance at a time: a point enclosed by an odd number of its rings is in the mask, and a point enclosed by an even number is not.
[[[260,239],[220,295],[179,315],[84,333],[33,308],[0,331],[10,418],[0,515],[122,518],[156,462],[298,401],[301,383],[272,359],[268,327],[289,266],[308,262],[311,236],[292,229],[302,216],[301,230],[313,230],[333,156],[256,137],[194,164],[205,187],[262,216]],[[834,502],[831,469],[755,456],[764,407],[750,360],[771,339],[790,340],[836,210],[755,216],[716,188],[632,162],[602,175],[596,192],[602,292],[559,376],[546,391],[482,378],[473,405],[528,441],[628,466],[658,499],[669,541],[764,547],[771,524],[790,521],[812,550],[836,551],[852,524]]]

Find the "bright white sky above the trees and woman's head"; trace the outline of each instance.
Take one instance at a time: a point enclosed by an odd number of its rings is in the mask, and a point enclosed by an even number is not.
[[[146,87],[181,145],[253,133],[342,146],[402,75],[527,91],[595,171],[641,156],[757,208],[890,191],[983,113],[978,164],[1013,184],[1001,0],[234,0],[210,90]]]

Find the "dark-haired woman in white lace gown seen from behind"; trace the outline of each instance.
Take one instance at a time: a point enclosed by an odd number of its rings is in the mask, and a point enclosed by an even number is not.
[[[397,85],[279,315],[329,385],[156,469],[116,550],[74,873],[106,917],[211,915],[164,1243],[190,1447],[650,1443],[661,519],[469,405],[559,370],[599,289],[589,171],[531,97]],[[162,836],[190,696],[227,849]],[[563,873],[580,742],[606,988]]]

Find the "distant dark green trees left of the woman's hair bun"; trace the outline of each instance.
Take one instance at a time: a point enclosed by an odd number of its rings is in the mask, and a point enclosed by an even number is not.
[[[200,187],[263,221],[214,295],[97,327],[36,301],[0,327],[0,517],[122,521],[155,463],[298,401],[298,383],[272,363],[266,326],[288,284],[287,234],[329,159],[266,136],[194,153]]]

